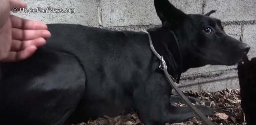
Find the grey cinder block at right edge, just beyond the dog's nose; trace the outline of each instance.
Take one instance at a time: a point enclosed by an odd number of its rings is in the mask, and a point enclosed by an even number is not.
[[[243,42],[250,45],[249,58],[256,57],[256,25],[245,25],[243,28]]]

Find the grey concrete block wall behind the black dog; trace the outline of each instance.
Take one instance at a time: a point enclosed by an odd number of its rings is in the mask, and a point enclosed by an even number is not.
[[[24,0],[28,8],[75,9],[71,13],[13,13],[46,24],[72,23],[107,29],[146,31],[160,26],[153,0]],[[222,20],[228,35],[251,46],[249,57],[256,57],[256,0],[170,0],[185,13],[205,14]],[[182,74],[183,90],[218,91],[239,88],[237,66],[204,66]]]

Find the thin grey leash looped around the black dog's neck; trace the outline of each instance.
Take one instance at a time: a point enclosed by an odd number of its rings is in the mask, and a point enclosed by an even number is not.
[[[173,33],[173,31],[171,31]],[[175,34],[173,33],[174,37],[175,37],[175,40],[177,42],[177,38],[175,36]],[[190,108],[192,108],[192,110],[195,111],[195,113],[207,124],[207,125],[214,125],[208,118],[206,118],[206,116],[204,116],[204,114],[198,110],[197,107],[195,107],[195,105],[193,105],[191,103],[191,101],[189,101],[189,99],[182,93],[182,91],[175,85],[174,81],[176,82],[176,79],[174,79],[171,75],[169,75],[168,71],[167,71],[167,65],[166,65],[166,62],[165,60],[163,59],[163,56],[160,56],[157,51],[155,50],[153,44],[152,44],[152,39],[151,39],[151,36],[150,36],[150,33],[148,33],[148,39],[149,39],[149,44],[150,44],[150,48],[151,50],[153,51],[153,53],[160,59],[161,63],[160,63],[160,66],[159,68],[161,68],[164,73],[165,73],[165,76],[167,77],[170,85],[173,87],[173,89],[178,93],[178,95],[181,97],[182,101],[184,101],[187,106],[189,106]]]

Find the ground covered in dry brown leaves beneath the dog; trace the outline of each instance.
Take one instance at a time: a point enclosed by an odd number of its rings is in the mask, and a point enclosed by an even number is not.
[[[204,101],[212,101],[209,107],[215,109],[215,116],[208,117],[215,125],[246,125],[245,114],[240,106],[240,90],[223,90],[221,92],[191,92],[195,97]],[[204,105],[204,101],[195,105]],[[174,104],[184,107],[186,105]],[[95,120],[89,120],[78,125],[144,125],[134,111],[123,112],[122,115],[110,118],[104,116]],[[165,123],[165,125],[204,125],[200,118],[191,118],[184,123]]]

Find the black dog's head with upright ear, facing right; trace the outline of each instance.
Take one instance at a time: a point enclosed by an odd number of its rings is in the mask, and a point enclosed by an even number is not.
[[[185,14],[168,0],[154,0],[162,26],[174,31],[179,40],[184,63],[188,68],[213,65],[233,65],[242,61],[250,46],[228,36],[221,21],[205,15]]]

